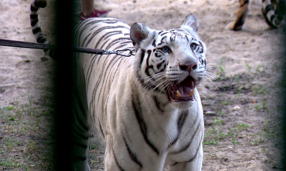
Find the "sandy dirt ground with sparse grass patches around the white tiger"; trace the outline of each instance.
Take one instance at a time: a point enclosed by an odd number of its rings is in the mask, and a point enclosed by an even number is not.
[[[76,1],[79,19],[81,1]],[[35,42],[30,0],[0,0],[0,38]],[[270,29],[261,1],[251,2],[242,31],[225,27],[238,0],[98,0],[108,17],[154,29],[179,27],[193,13],[207,46],[208,78],[199,85],[205,120],[202,170],[283,170],[284,31]],[[40,23],[54,40],[54,0]],[[52,41],[51,41],[52,42]],[[0,170],[52,170],[55,61],[42,50],[0,46]],[[213,75],[214,74],[214,75]],[[219,78],[220,77],[220,78]],[[217,81],[215,81],[217,80]],[[103,170],[104,147],[90,141],[92,170]]]

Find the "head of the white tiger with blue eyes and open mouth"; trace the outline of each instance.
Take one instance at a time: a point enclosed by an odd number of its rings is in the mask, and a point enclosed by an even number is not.
[[[130,29],[137,48],[133,67],[140,82],[152,93],[168,95],[168,101],[179,107],[192,104],[194,89],[206,75],[206,45],[197,30],[192,14],[180,28],[153,30],[134,23]]]

